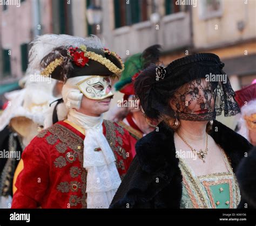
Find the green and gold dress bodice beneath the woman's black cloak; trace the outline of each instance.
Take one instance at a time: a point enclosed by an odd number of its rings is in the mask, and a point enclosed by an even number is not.
[[[237,208],[241,198],[237,179],[222,149],[221,153],[228,172],[196,176],[177,152],[183,176],[180,208]]]

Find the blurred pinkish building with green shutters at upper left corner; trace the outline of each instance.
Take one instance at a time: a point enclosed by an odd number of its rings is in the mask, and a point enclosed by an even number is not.
[[[12,1],[19,2],[19,1]],[[71,4],[63,0],[21,0],[0,7],[0,101],[17,89],[28,67],[29,43],[45,33],[72,34]]]

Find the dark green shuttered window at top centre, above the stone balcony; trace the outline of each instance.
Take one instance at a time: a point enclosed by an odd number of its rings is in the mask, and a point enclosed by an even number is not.
[[[115,27],[129,26],[149,19],[147,0],[114,0]]]

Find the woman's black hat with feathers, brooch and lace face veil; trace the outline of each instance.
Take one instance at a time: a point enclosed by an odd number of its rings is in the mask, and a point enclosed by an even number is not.
[[[210,121],[222,110],[233,116],[240,109],[223,67],[213,53],[188,55],[167,67],[149,66],[137,77],[134,89],[145,115],[152,119],[168,115]]]

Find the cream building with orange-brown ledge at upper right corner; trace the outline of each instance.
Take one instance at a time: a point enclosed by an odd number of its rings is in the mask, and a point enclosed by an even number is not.
[[[194,51],[218,54],[233,89],[248,86],[256,77],[256,1],[204,2],[193,9]]]

